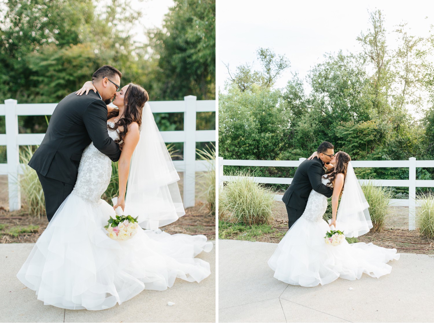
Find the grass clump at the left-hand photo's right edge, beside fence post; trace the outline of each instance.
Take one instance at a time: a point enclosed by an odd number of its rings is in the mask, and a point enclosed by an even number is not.
[[[208,171],[204,172],[201,176],[203,181],[201,182],[202,194],[207,201],[207,207],[210,215],[216,214],[216,147],[213,143],[210,143],[211,147],[206,145],[207,149],[196,149],[199,160],[206,160],[208,162]]]

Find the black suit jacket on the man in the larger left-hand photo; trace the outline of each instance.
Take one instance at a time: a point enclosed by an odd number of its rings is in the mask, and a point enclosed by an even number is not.
[[[98,93],[67,95],[57,104],[41,145],[29,166],[43,176],[74,185],[85,147],[91,142],[117,161],[118,144],[107,132],[107,106]]]

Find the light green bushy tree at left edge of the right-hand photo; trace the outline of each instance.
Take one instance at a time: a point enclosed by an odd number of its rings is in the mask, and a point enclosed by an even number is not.
[[[219,147],[229,159],[275,159],[288,147],[289,119],[279,90],[219,93]]]

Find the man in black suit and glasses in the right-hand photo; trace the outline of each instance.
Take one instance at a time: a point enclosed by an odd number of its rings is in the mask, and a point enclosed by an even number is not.
[[[334,146],[324,141],[319,145],[317,153],[318,157],[306,159],[298,166],[291,185],[283,195],[282,201],[288,213],[288,228],[303,214],[312,189],[327,197],[332,196],[333,189],[322,184],[321,176],[325,174],[324,165],[327,169],[333,167],[330,161],[335,154]]]

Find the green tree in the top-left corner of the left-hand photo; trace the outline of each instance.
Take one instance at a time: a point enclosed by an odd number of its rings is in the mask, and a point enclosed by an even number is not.
[[[78,44],[79,33],[90,32],[93,6],[77,0],[8,1],[0,20],[0,67],[6,85],[0,96],[21,102],[30,98],[36,73],[29,67],[28,56],[50,44]]]

